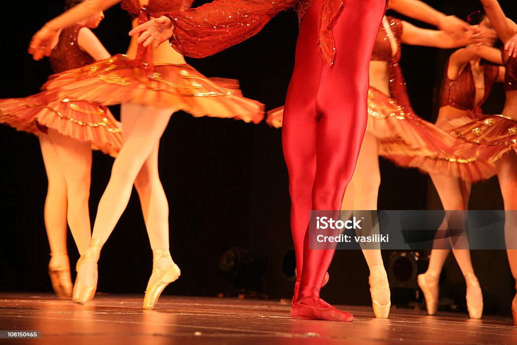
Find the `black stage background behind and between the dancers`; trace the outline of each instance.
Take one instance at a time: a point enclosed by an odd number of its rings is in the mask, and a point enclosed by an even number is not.
[[[480,7],[472,0],[426,2],[461,18]],[[33,33],[60,13],[62,3],[3,4],[0,98],[36,93],[51,74],[47,61],[33,61],[26,50]],[[517,19],[517,5],[513,0],[501,1],[501,5],[509,17]],[[123,53],[129,43],[130,19],[118,6],[105,14],[105,20],[95,33],[112,54]],[[296,36],[295,13],[283,12],[260,34],[237,47],[205,59],[188,59],[188,62],[209,77],[238,79],[245,96],[258,99],[271,109],[283,104],[293,69]],[[403,50],[402,68],[413,106],[420,116],[434,121],[436,94],[450,51],[407,46]],[[499,112],[503,102],[502,88],[496,87],[485,111]],[[46,272],[49,247],[43,224],[47,179],[38,141],[2,126],[0,142],[0,291],[51,291]],[[92,223],[112,162],[110,157],[94,153]],[[224,248],[239,247],[265,256],[264,282],[269,296],[290,297],[293,282],[286,276],[292,272],[284,272],[283,266],[284,255],[287,253],[288,257],[292,250],[292,239],[281,130],[264,123],[251,125],[177,113],[162,138],[159,164],[170,203],[171,253],[182,269],[181,278],[165,293],[232,293],[232,284],[218,269],[218,258]],[[394,167],[383,159],[381,169],[379,209],[441,208],[427,176]],[[470,207],[503,208],[497,179],[474,187]],[[69,253],[73,267],[78,253],[71,236]],[[390,253],[385,255],[388,265]],[[505,252],[473,251],[472,255],[484,292],[485,311],[508,314],[513,282]],[[143,296],[151,262],[138,197],[133,193],[126,212],[102,251],[98,291],[142,293]],[[443,294],[464,305],[464,281],[451,258],[445,272],[448,279],[442,284]],[[337,252],[330,275],[332,279],[323,291],[329,302],[370,303],[368,270],[360,252]],[[408,293],[399,290],[393,289],[394,298]],[[405,304],[403,301],[409,298],[399,299],[400,304]]]

